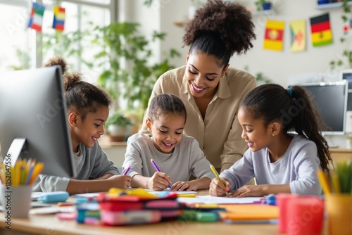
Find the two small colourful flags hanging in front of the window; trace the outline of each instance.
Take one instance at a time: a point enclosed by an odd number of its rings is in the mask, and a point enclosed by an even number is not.
[[[43,17],[44,17],[45,6],[36,2],[32,3],[32,9],[30,11],[30,20],[28,27],[37,32],[42,32]],[[61,6],[54,6],[54,19],[53,28],[63,32],[65,29],[65,8]]]

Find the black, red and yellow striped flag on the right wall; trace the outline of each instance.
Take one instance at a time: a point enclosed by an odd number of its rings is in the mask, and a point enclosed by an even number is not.
[[[310,32],[313,46],[332,44],[329,13],[310,18]]]

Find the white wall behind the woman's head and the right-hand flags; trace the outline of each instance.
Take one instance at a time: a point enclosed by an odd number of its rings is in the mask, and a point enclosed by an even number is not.
[[[161,1],[161,0],[160,0]],[[254,8],[254,0],[241,1],[249,8]],[[183,65],[187,54],[187,48],[182,49],[182,36],[184,28],[177,27],[173,23],[183,20],[187,15],[191,1],[164,0],[161,1],[161,30],[168,34],[168,38],[161,44],[161,51],[171,47],[182,51],[182,58],[175,61],[176,65]],[[253,16],[256,25],[257,39],[253,42],[253,49],[245,55],[234,55],[230,64],[234,67],[244,69],[249,66],[249,72],[256,74],[263,72],[275,83],[286,86],[291,75],[301,73],[321,73],[325,77],[337,75],[337,72],[329,71],[329,61],[341,57],[346,46],[351,47],[351,43],[341,44],[339,39],[342,33],[343,23],[341,20],[342,9],[332,9],[327,11],[316,10],[316,1],[313,0],[274,0],[273,6],[276,13],[274,15]],[[328,46],[313,47],[310,42],[310,22],[309,18],[327,13],[330,15],[334,43]],[[265,32],[265,21],[284,20],[284,49],[283,51],[263,50],[263,37]],[[306,51],[291,53],[289,21],[306,20]],[[351,40],[348,40],[351,41]]]

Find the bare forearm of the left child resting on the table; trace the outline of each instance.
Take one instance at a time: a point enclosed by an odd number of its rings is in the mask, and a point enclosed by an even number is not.
[[[94,192],[104,192],[108,191],[113,187],[112,182],[106,179],[96,179],[96,180],[78,180],[70,179],[66,191],[72,194],[77,193],[94,193]]]

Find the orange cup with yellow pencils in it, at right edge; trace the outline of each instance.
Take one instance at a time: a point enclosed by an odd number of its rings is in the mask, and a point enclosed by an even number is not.
[[[325,194],[329,235],[352,234],[352,162],[341,161],[331,179],[318,172]]]

